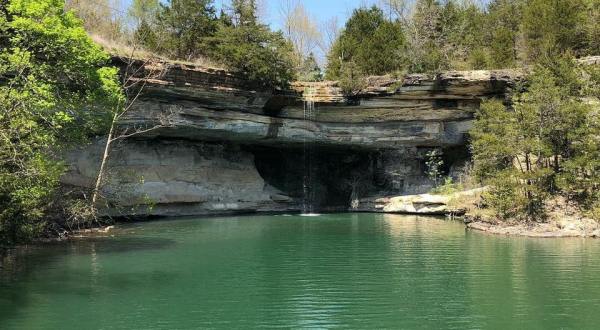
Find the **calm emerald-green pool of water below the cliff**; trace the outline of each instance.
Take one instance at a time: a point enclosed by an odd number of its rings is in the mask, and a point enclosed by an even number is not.
[[[398,215],[119,226],[4,257],[0,329],[600,327],[600,240]]]

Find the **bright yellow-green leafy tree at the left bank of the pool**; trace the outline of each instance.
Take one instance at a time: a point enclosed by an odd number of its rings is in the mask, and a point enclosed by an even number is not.
[[[0,244],[38,235],[66,147],[122,102],[117,71],[61,0],[11,0],[0,30]]]

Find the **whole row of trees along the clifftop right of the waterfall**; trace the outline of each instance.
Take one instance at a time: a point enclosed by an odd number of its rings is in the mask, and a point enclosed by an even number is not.
[[[351,60],[373,75],[514,68],[567,52],[600,54],[600,0],[412,4],[408,19],[385,19],[375,7],[356,10],[328,54],[327,78],[338,79]]]

